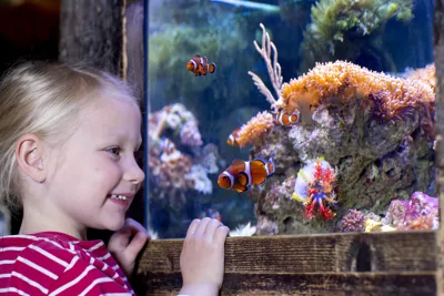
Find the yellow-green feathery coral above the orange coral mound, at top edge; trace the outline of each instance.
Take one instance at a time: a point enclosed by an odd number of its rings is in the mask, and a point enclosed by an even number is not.
[[[321,0],[312,7],[312,23],[301,44],[301,72],[315,62],[337,59],[353,61],[363,47],[383,55],[381,42],[375,42],[389,19],[408,22],[413,19],[413,0]],[[385,54],[385,55],[384,55]],[[393,69],[392,69],[393,70]]]

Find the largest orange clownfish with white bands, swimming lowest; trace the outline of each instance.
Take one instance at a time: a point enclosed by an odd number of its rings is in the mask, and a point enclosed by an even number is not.
[[[273,159],[265,161],[256,157],[251,162],[234,160],[231,165],[218,177],[218,185],[224,190],[234,190],[239,193],[248,191],[251,185],[265,182],[275,171]]]

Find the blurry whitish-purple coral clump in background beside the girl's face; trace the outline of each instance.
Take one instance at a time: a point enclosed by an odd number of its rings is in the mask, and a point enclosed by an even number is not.
[[[167,105],[149,116],[151,198],[180,208],[186,194],[195,191],[211,194],[213,185],[208,174],[219,171],[218,149],[203,147],[198,120],[183,104]],[[164,152],[160,137],[171,136],[173,152]],[[191,152],[191,153],[190,153]]]

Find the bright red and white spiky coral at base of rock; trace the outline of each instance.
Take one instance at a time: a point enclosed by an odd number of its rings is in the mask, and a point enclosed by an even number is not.
[[[335,216],[330,207],[337,203],[334,192],[336,173],[323,159],[309,161],[297,173],[293,198],[305,206],[305,215],[313,218],[316,212],[326,221]]]

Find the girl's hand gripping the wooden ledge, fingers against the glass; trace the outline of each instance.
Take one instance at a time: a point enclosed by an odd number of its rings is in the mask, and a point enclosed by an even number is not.
[[[224,243],[230,229],[218,220],[194,220],[183,243],[180,294],[218,295],[223,282]]]

